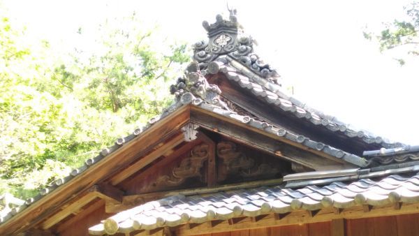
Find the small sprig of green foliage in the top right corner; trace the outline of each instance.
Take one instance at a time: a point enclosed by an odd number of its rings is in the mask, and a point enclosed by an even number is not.
[[[385,29],[380,34],[365,33],[364,37],[371,40],[373,36],[380,44],[381,52],[394,48],[403,48],[408,54],[419,55],[419,2],[413,2],[405,7],[406,20],[395,20],[385,24]],[[399,64],[405,63],[404,59],[396,59]]]

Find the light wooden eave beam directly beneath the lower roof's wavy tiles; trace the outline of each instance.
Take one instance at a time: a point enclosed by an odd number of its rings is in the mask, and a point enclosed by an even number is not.
[[[185,226],[181,226],[175,230],[175,235],[203,235],[210,233],[230,232],[235,230],[290,226],[325,221],[333,221],[333,229],[331,230],[335,230],[333,232],[339,233],[342,230],[342,226],[344,226],[344,222],[341,221],[342,219],[360,219],[380,216],[392,216],[399,214],[417,214],[418,209],[419,203],[403,205],[403,207],[399,210],[395,210],[392,205],[388,207],[373,208],[370,212],[364,212],[362,207],[351,207],[351,209],[344,209],[344,211],[342,211],[341,214],[337,215],[333,212],[332,207],[328,207],[327,209],[322,209],[320,212],[318,212],[318,214],[316,214],[313,217],[310,217],[309,213],[306,210],[301,210],[297,212],[291,212],[280,220],[277,219],[277,216],[275,216],[275,214],[268,214],[265,218],[260,219],[259,221],[251,221],[251,217],[246,217],[240,222],[233,223],[232,221],[223,221],[218,225],[212,227],[209,227],[205,223],[200,224],[194,228],[187,228]],[[331,235],[335,236],[339,234]]]

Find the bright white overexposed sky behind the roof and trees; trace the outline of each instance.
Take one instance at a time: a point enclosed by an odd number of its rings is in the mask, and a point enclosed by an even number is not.
[[[419,59],[399,66],[365,40],[404,15],[409,1],[228,1],[257,52],[277,68],[295,96],[341,121],[391,140],[419,145]],[[75,32],[93,32],[107,17],[135,10],[162,37],[195,43],[206,38],[201,22],[228,14],[226,1],[5,1],[8,13],[34,38],[73,48]],[[94,35],[92,35],[94,37]]]

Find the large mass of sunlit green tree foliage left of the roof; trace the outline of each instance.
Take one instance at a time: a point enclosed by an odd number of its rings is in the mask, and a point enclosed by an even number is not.
[[[185,45],[168,45],[135,14],[105,22],[94,50],[68,55],[47,41],[26,45],[6,17],[0,29],[0,194],[19,198],[161,112],[170,79],[189,60]]]

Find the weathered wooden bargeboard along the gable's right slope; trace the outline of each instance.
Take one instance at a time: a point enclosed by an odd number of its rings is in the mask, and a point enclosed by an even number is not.
[[[272,137],[261,134],[257,128],[243,127],[239,121],[232,121],[231,119],[226,119],[226,117],[221,117],[216,114],[203,114],[202,112],[203,111],[201,110],[199,110],[199,112],[192,112],[191,121],[203,128],[207,128],[210,131],[221,133],[222,135],[235,140],[235,142],[240,142],[249,147],[272,154],[273,156],[278,156],[288,161],[299,163],[300,165],[304,165],[314,170],[324,170],[330,165],[334,165],[336,168],[339,166],[339,163],[342,164],[344,162],[331,156],[323,158],[313,152],[304,152],[302,147],[297,148],[291,145],[286,145],[284,140],[275,140]],[[219,119],[214,119],[214,116]],[[275,138],[279,138],[279,136]],[[332,161],[329,158],[334,159]],[[343,168],[344,165],[341,165],[341,167]]]

